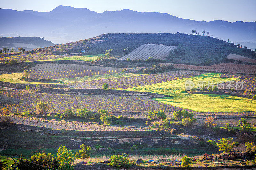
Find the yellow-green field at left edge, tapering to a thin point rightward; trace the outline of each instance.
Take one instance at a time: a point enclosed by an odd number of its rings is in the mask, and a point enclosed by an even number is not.
[[[47,83],[47,82],[29,82],[21,80],[22,73],[11,73],[11,74],[1,74],[0,81],[9,83],[22,83],[22,84],[58,84],[58,83]]]

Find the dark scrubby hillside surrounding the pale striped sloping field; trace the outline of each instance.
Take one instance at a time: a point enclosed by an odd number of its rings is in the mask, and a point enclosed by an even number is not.
[[[210,65],[223,62],[230,53],[246,56],[241,48],[229,47],[225,41],[208,36],[183,33],[108,33],[86,40],[40,48],[31,52],[49,52],[50,50],[52,51],[50,54],[55,54],[66,49],[69,53],[77,53],[83,49],[87,55],[90,55],[103,54],[105,50],[113,49],[113,55],[120,57],[125,55],[124,49],[127,47],[134,50],[144,44],[177,46],[179,43],[183,44],[182,48],[185,50],[185,54],[172,58],[170,60],[172,63]]]

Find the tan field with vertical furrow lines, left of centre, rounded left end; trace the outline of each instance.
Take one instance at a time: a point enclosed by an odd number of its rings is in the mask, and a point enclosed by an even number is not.
[[[122,70],[113,67],[44,63],[29,68],[28,73],[34,78],[58,79],[119,73]]]

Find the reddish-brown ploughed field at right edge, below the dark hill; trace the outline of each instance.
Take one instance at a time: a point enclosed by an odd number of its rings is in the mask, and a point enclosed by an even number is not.
[[[222,73],[256,74],[256,65],[232,64],[232,63],[220,63],[220,64],[214,64],[211,66],[197,66],[197,65],[169,64],[169,63],[160,63],[160,64],[173,65],[175,69],[212,71],[212,72],[222,72]]]

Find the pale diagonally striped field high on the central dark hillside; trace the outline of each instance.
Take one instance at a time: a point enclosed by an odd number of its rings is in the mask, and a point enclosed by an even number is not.
[[[165,60],[168,56],[170,50],[177,48],[177,46],[165,46],[158,44],[144,44],[140,47],[136,48],[132,52],[123,57],[119,58],[119,60],[126,60],[130,58],[130,60],[146,60],[149,57],[153,57],[155,59]]]

